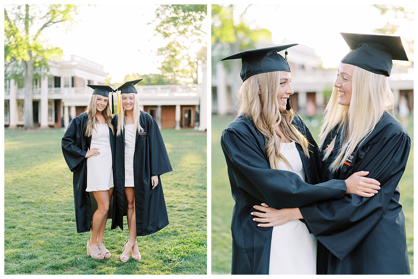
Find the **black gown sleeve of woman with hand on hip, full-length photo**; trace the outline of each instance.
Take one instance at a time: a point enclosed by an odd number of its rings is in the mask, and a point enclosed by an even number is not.
[[[61,140],[62,154],[70,168],[71,172],[76,171],[85,158],[87,151],[78,147],[81,142],[83,134],[83,127],[79,118],[73,118],[68,125],[67,130]]]

